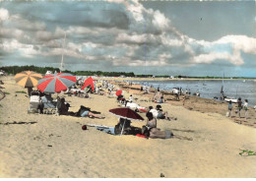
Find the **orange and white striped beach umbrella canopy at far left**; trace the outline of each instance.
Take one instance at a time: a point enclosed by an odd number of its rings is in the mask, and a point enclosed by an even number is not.
[[[16,74],[15,81],[24,88],[33,88],[37,85],[42,76],[32,71],[25,71]]]

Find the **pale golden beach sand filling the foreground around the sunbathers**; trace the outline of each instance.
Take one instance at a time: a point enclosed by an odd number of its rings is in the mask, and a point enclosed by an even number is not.
[[[116,98],[61,94],[71,104],[71,111],[85,105],[101,112],[105,119],[28,114],[30,99],[16,92],[27,90],[17,85],[14,77],[1,79],[5,83],[3,91],[10,93],[0,101],[1,178],[159,178],[161,173],[165,178],[256,176],[256,156],[239,155],[241,150],[256,151],[256,129],[235,123],[219,109],[212,111],[215,106],[207,107],[210,103],[201,99],[191,97],[189,101],[197,102],[185,107],[172,100],[161,104],[177,120],[159,120],[158,127],[193,141],[112,136],[94,127],[86,131],[81,127],[114,126],[117,117],[108,110],[118,107]],[[128,91],[126,98],[134,90]],[[134,97],[142,106],[156,106],[148,101],[150,96]],[[200,103],[208,111],[196,111]],[[141,115],[146,118],[145,113]],[[247,121],[254,119],[252,115]],[[133,126],[144,124],[132,121]]]

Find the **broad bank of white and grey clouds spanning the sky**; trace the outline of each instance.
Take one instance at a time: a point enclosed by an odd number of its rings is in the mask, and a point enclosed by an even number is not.
[[[46,2],[44,2],[46,3]],[[44,4],[45,5],[45,4]],[[65,56],[113,66],[184,66],[226,61],[242,65],[242,53],[256,54],[256,38],[225,35],[197,40],[177,30],[159,10],[138,0],[48,4],[26,13],[0,9],[0,50],[22,56]],[[73,4],[72,4],[73,5]],[[44,11],[45,7],[48,11]],[[63,13],[63,11],[69,13]],[[35,17],[29,19],[28,16]],[[36,16],[40,18],[36,19]],[[57,25],[57,26],[56,26]],[[62,48],[66,32],[66,44]],[[58,60],[59,61],[59,60]]]

